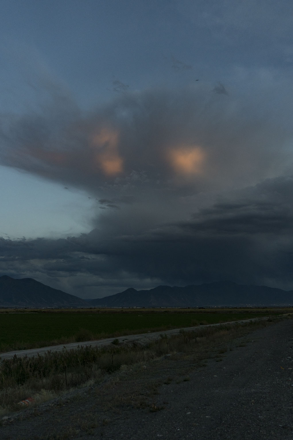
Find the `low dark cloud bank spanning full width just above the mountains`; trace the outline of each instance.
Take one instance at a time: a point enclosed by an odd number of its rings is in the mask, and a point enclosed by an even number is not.
[[[84,297],[86,292],[103,296],[109,286],[115,293],[131,285],[218,279],[286,288],[293,267],[292,191],[292,177],[265,180],[222,195],[189,221],[138,234],[113,236],[95,229],[59,240],[2,239],[0,270],[50,279]]]

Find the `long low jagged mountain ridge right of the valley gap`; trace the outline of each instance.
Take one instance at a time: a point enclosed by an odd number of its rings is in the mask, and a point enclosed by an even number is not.
[[[100,307],[204,307],[293,305],[293,290],[267,286],[243,286],[230,281],[200,286],[157,286],[150,290],[127,289],[104,298],[89,300]]]

